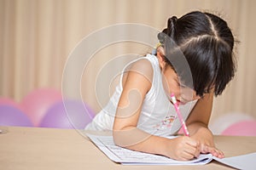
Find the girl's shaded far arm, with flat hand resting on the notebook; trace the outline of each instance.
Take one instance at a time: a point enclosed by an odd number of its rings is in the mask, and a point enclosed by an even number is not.
[[[199,141],[201,144],[201,153],[210,152],[213,156],[222,158],[224,153],[215,148],[212,132],[208,129],[212,102],[212,92],[199,99],[186,122],[191,138]]]

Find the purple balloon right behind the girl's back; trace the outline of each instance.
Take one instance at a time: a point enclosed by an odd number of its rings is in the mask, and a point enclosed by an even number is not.
[[[84,129],[94,116],[95,113],[88,105],[81,101],[66,99],[56,102],[49,108],[40,127]]]

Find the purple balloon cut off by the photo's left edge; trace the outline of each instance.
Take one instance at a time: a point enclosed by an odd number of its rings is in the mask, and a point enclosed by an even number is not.
[[[0,125],[32,127],[32,122],[18,108],[11,105],[0,105]]]

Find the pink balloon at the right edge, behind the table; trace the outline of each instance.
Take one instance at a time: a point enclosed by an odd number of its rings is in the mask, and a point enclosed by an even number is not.
[[[256,136],[256,121],[236,122],[227,127],[222,135],[232,136]]]

